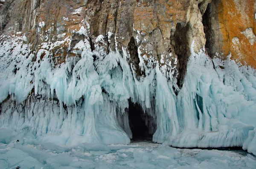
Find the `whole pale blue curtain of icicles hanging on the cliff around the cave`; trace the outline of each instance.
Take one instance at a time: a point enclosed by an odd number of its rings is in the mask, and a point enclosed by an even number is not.
[[[1,37],[1,128],[32,132],[42,143],[66,146],[129,144],[130,99],[152,117],[147,125],[155,130],[154,142],[176,147],[243,146],[256,154],[254,69],[191,50],[183,87],[175,95],[175,77],[157,60],[141,57],[145,76],[138,78],[125,47],[106,54],[100,35],[92,51],[86,38],[89,29],[85,24],[76,32],[85,36],[70,49],[77,57],[58,65],[51,49],[71,38],[43,43],[35,55],[23,37]]]

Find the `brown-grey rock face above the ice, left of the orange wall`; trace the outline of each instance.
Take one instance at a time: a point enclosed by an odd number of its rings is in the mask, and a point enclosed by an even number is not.
[[[202,14],[209,2],[7,0],[1,12],[1,28],[4,34],[7,31],[23,32],[26,43],[33,44],[35,52],[42,43],[72,37],[71,45],[66,43],[52,49],[52,57],[58,64],[73,56],[69,47],[83,38],[74,32],[87,23],[91,43],[103,35],[106,52],[121,51],[122,47],[128,49],[138,75],[145,71],[139,63],[142,64],[143,58],[147,57],[154,58],[161,65],[166,64],[168,71],[183,79],[192,41],[195,40],[195,51],[205,45]]]

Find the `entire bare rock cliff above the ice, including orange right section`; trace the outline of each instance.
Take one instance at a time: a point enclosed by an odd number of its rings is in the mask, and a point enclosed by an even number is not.
[[[182,83],[193,40],[195,51],[206,46],[211,56],[231,52],[234,60],[256,65],[255,6],[253,0],[6,0],[0,25],[2,34],[25,35],[34,52],[42,43],[72,39],[51,49],[58,64],[74,56],[84,38],[76,32],[88,24],[92,46],[102,35],[107,53],[125,47],[138,75],[139,63],[154,58]]]

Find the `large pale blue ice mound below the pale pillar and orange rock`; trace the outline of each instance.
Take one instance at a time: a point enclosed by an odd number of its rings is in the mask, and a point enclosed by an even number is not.
[[[179,107],[179,124],[183,131],[175,137],[169,137],[169,145],[242,146],[249,131],[254,129],[255,99],[248,99],[245,94],[249,95],[255,92],[255,89],[239,72],[233,60],[226,62],[227,69],[237,72],[237,77],[233,74],[231,78],[230,70],[220,70],[220,60],[215,59],[213,65],[204,52],[192,52],[183,88],[176,102],[176,106]],[[237,84],[227,83],[231,80]],[[235,89],[238,85],[240,88]]]

